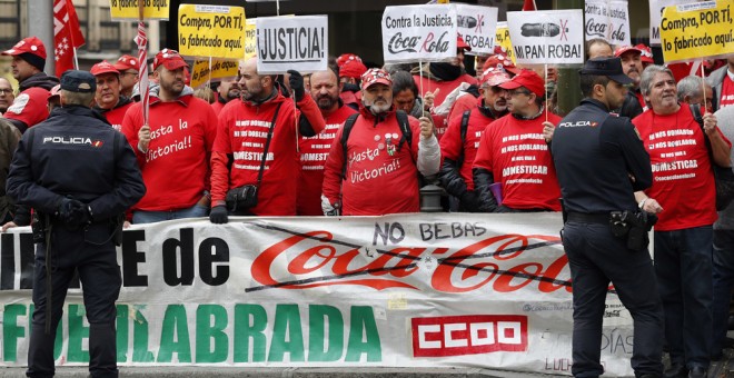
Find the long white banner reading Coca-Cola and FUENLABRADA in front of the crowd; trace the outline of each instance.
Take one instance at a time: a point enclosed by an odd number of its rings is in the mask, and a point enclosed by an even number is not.
[[[571,375],[559,213],[230,218],[132,226],[119,251],[121,366],[477,367]],[[33,245],[0,235],[0,366],[27,364]],[[88,362],[69,291],[61,366]],[[613,291],[605,376],[631,376]]]

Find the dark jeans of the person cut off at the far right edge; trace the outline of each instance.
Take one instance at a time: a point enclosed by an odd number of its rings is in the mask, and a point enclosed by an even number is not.
[[[722,354],[728,331],[728,307],[734,287],[734,230],[714,230],[714,335],[712,356]]]

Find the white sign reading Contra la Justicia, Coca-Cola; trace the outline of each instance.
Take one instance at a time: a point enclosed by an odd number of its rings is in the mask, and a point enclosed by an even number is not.
[[[446,61],[456,57],[456,14],[452,4],[385,8],[385,62]]]

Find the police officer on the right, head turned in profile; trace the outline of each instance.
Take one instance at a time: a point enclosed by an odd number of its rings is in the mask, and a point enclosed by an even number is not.
[[[652,225],[634,197],[652,185],[649,156],[629,119],[609,115],[631,82],[619,58],[588,60],[581,70],[585,98],[553,135],[573,281],[574,377],[604,372],[599,345],[609,281],[634,320],[635,376],[663,375],[663,307],[646,239]]]

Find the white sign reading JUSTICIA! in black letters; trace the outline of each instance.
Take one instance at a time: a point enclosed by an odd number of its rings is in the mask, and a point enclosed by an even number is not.
[[[258,73],[326,70],[329,54],[327,16],[258,17],[255,27]]]

